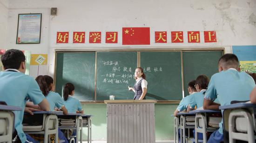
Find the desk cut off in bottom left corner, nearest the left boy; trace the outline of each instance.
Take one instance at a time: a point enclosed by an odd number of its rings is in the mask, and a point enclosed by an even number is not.
[[[0,105],[0,142],[12,143],[15,114],[12,111],[21,111],[17,106]]]

